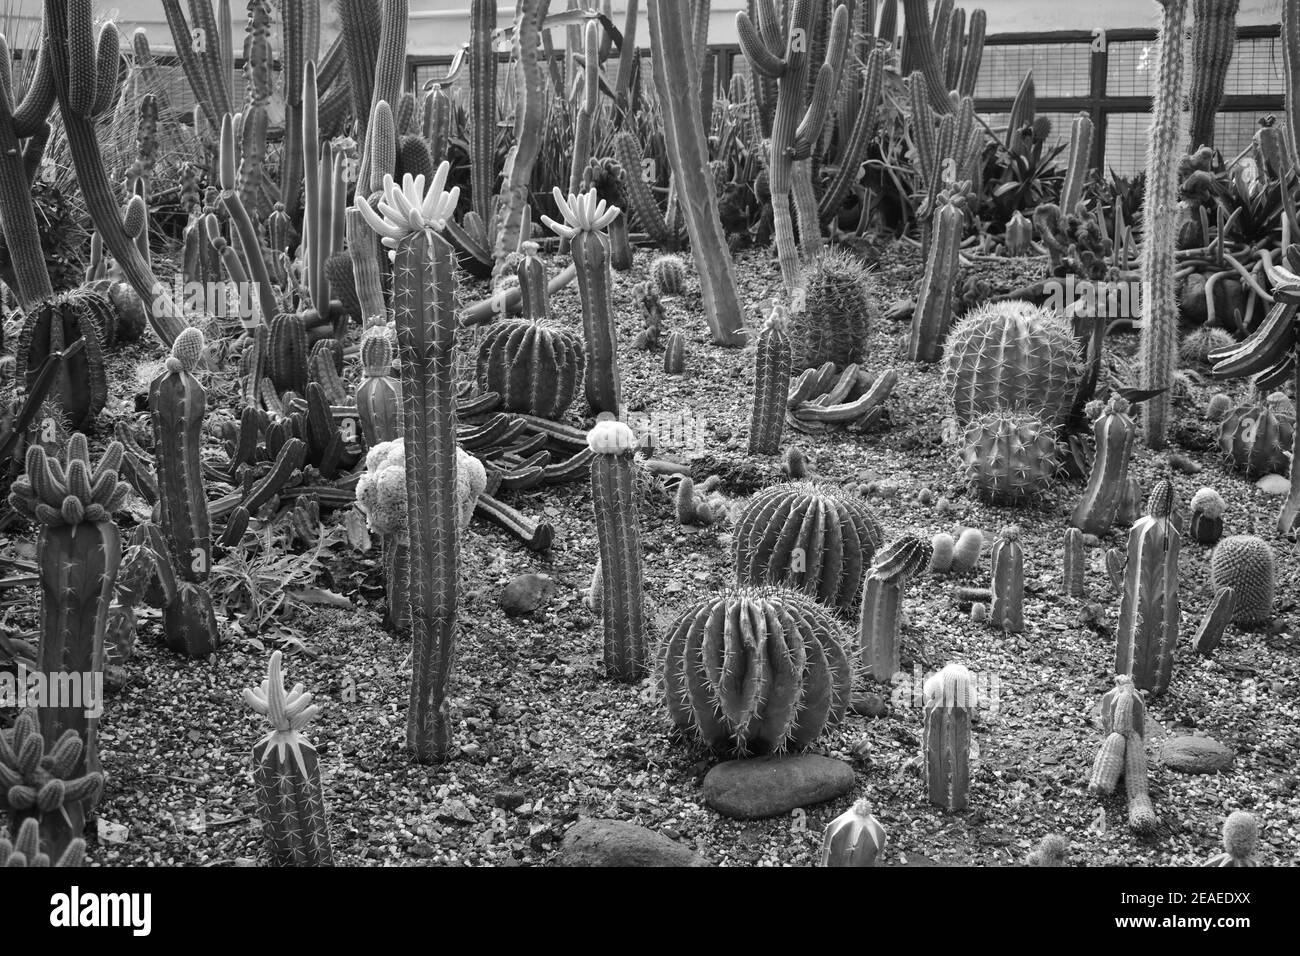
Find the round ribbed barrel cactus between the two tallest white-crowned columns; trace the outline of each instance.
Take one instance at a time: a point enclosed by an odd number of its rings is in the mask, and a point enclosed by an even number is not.
[[[476,378],[506,411],[559,420],[582,385],[586,352],[572,332],[526,319],[494,323],[478,345]]]

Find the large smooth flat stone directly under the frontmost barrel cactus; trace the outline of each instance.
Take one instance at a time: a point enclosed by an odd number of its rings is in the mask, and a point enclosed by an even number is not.
[[[844,796],[853,779],[844,761],[810,753],[729,760],[705,777],[705,803],[736,819],[780,817]]]

